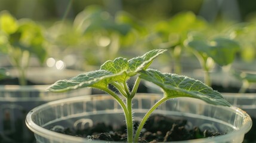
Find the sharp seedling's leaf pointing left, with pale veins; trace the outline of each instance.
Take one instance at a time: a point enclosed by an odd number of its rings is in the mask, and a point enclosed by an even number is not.
[[[111,73],[106,70],[90,71],[88,73],[79,74],[69,80],[58,80],[51,85],[47,91],[51,92],[65,92],[73,89],[93,87],[93,88],[107,88],[109,83],[118,80],[120,74]]]

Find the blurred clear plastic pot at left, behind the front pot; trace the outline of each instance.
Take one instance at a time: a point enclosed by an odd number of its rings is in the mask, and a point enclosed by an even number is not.
[[[35,136],[24,122],[26,114],[32,108],[54,100],[91,94],[90,89],[60,94],[45,92],[48,86],[50,85],[0,86],[0,142],[34,142]]]

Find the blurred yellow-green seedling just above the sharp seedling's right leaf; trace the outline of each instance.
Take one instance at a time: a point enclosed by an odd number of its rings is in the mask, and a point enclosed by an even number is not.
[[[184,49],[184,40],[191,30],[203,30],[207,23],[190,11],[181,12],[169,20],[156,23],[153,34],[149,35],[149,42],[153,48],[169,49],[174,60],[174,73],[181,73],[181,55]]]

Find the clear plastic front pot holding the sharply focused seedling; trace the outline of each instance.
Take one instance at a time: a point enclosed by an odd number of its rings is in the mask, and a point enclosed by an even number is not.
[[[134,120],[140,120],[146,111],[159,99],[159,94],[137,94],[133,100]],[[193,139],[178,142],[242,142],[251,128],[252,121],[247,113],[237,107],[222,107],[206,104],[193,98],[175,98],[162,104],[153,114],[187,119],[189,125],[203,129],[226,132],[214,138]],[[35,133],[37,142],[106,142],[64,135],[51,131],[54,126],[83,128],[95,122],[124,124],[124,114],[110,95],[90,95],[48,102],[31,110],[26,125]]]

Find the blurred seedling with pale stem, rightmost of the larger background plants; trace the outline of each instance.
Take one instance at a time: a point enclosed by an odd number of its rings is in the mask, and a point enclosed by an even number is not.
[[[215,63],[219,66],[230,67],[230,64],[235,60],[236,53],[240,50],[239,43],[234,39],[223,36],[206,38],[205,35],[198,32],[189,33],[184,44],[198,58],[205,73],[205,83],[208,86],[211,86],[209,72]]]

